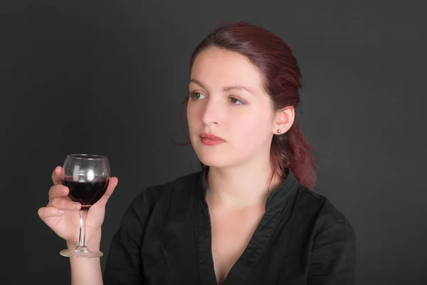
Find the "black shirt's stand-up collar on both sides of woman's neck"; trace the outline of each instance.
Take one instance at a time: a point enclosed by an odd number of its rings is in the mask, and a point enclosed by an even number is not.
[[[206,199],[206,191],[208,190],[208,172],[209,166],[204,165],[203,170],[201,171],[201,185],[204,192],[203,199]],[[286,168],[285,173],[287,175],[285,181],[283,181],[281,185],[268,195],[267,201],[265,202],[265,210],[273,209],[285,203],[298,189],[299,182],[293,175],[292,170]]]

